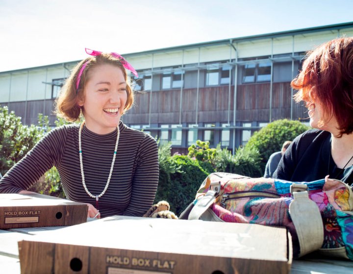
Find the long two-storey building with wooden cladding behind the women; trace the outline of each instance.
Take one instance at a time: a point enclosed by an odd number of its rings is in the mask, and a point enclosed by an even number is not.
[[[139,78],[122,119],[174,151],[197,139],[233,150],[269,122],[307,117],[290,81],[306,51],[343,35],[353,36],[353,22],[124,54]],[[77,62],[0,72],[0,105],[24,124],[43,113],[53,125],[55,98]]]

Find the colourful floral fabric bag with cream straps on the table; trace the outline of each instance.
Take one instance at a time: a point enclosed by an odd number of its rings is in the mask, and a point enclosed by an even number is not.
[[[296,183],[212,173],[179,219],[286,227],[295,257],[319,250],[353,260],[353,191],[325,178]]]

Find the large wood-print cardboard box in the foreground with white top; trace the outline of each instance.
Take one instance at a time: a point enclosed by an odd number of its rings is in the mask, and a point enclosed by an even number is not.
[[[21,273],[289,273],[284,228],[112,216],[19,242]]]

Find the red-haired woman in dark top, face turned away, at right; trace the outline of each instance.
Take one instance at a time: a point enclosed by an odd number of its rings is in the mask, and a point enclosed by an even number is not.
[[[353,37],[309,52],[291,86],[314,129],[293,140],[272,177],[312,182],[329,175],[353,185]]]

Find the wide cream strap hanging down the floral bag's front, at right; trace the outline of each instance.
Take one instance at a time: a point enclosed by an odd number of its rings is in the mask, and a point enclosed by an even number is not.
[[[298,235],[300,256],[320,249],[324,242],[324,225],[319,207],[309,199],[306,190],[306,184],[293,183],[293,201],[289,205],[289,214]]]

